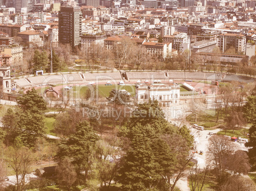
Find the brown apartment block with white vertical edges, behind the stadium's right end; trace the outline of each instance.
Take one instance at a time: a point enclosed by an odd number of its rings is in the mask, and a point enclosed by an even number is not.
[[[236,49],[236,53],[245,53],[246,37],[243,34],[220,34],[217,44],[223,53],[232,47]]]

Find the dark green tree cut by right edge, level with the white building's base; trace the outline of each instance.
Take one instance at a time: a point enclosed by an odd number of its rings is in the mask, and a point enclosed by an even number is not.
[[[243,107],[243,112],[248,122],[253,122],[256,119],[256,96],[248,96],[247,102]]]

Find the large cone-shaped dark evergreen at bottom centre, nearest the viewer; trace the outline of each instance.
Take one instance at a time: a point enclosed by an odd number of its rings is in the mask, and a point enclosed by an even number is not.
[[[151,143],[155,131],[149,125],[137,124],[127,134],[131,141],[127,154],[120,162],[117,180],[125,190],[148,190],[155,188],[161,176],[152,152]]]

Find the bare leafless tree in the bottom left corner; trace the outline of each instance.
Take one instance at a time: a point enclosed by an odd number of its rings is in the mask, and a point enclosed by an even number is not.
[[[25,175],[31,171],[34,154],[27,147],[9,147],[6,157],[8,165],[15,171],[17,191],[24,190]]]

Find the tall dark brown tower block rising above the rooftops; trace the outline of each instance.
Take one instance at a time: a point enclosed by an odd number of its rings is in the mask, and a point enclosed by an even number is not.
[[[77,6],[61,6],[59,11],[59,43],[75,47],[81,44],[82,12]]]

